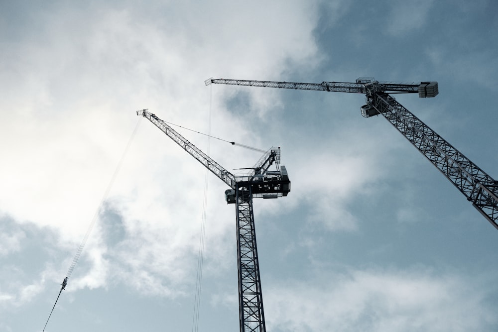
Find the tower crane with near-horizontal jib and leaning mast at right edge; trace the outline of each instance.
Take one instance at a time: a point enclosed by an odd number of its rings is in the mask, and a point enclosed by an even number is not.
[[[437,82],[378,82],[373,77],[360,77],[355,83],[291,83],[211,78],[206,80],[205,84],[364,94],[366,104],[360,109],[362,115],[364,117],[373,115],[385,117],[498,229],[498,181],[465,157],[390,95],[418,93],[419,98],[436,97],[439,93]]]

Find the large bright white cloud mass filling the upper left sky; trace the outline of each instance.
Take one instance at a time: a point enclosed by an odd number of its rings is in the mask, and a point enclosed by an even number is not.
[[[150,4],[152,15],[139,5],[62,5],[40,12],[35,20],[43,28],[28,26],[24,39],[8,42],[2,59],[1,108],[12,110],[0,124],[2,212],[59,232],[58,245],[71,253],[101,203],[138,120],[135,110],[149,108],[165,120],[203,130],[210,95],[203,81],[209,76],[275,78],[289,65],[316,63],[314,5],[274,2],[261,10],[262,3],[243,10],[231,1],[158,3]],[[264,110],[272,100],[257,99],[254,107]],[[239,141],[250,135],[243,119],[223,108],[215,112],[222,134]],[[219,150],[214,146],[213,155]],[[224,150],[220,163],[228,169],[254,162],[232,166],[250,158]],[[137,289],[167,280],[159,292],[171,295],[173,286],[188,280],[186,257],[196,252],[204,178],[203,167],[190,159],[148,121],[141,123],[107,197],[123,219],[124,238],[109,247],[98,221],[68,290],[103,287],[111,278]],[[223,261],[224,242],[233,246],[227,236],[233,211],[216,211],[224,205],[221,184],[210,190],[216,190],[220,205],[209,213],[217,222],[207,245]],[[8,252],[18,250],[17,235],[3,235],[4,243],[10,241]]]

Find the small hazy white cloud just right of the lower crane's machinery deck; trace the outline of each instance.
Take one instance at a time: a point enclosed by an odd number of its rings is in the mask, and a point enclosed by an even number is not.
[[[307,221],[321,223],[328,230],[357,230],[358,216],[350,207],[370,203],[371,188],[376,186],[378,195],[381,182],[389,176],[377,171],[387,169],[392,158],[379,145],[385,137],[380,130],[375,138],[369,137],[357,125],[333,128],[318,138],[310,134],[288,161],[293,188],[288,204],[305,203],[310,211]]]

